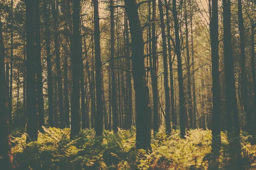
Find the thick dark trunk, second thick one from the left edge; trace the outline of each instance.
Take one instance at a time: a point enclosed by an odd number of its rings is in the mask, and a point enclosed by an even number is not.
[[[26,141],[38,139],[38,108],[36,96],[35,61],[35,6],[34,0],[26,0],[26,54],[27,54],[27,113]]]

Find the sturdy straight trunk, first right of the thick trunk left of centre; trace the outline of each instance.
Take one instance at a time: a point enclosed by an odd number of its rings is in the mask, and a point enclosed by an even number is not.
[[[100,56],[100,32],[99,32],[99,2],[93,0],[94,18],[94,42],[95,42],[95,80],[96,80],[96,136],[102,136],[103,130],[103,103],[102,103],[102,79],[101,79],[101,56]]]

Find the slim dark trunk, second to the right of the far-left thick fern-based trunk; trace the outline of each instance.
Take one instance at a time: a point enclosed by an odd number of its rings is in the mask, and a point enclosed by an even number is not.
[[[49,126],[54,127],[53,120],[53,90],[52,90],[52,60],[50,47],[50,30],[49,30],[49,13],[47,10],[47,2],[44,2],[44,27],[45,27],[45,45],[47,55],[47,88],[48,88],[48,112],[49,112]]]

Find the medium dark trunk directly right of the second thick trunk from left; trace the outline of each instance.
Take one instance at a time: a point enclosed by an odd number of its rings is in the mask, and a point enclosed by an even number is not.
[[[37,97],[38,97],[38,124],[39,130],[43,131],[44,126],[44,96],[43,96],[43,77],[41,64],[41,31],[40,31],[40,2],[35,0],[35,56],[36,56],[36,78],[37,78]]]

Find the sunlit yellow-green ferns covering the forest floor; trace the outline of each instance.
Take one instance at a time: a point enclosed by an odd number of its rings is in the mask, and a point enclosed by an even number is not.
[[[166,136],[164,127],[151,140],[152,152],[135,150],[135,127],[130,130],[82,130],[70,141],[70,129],[44,128],[38,142],[26,144],[24,130],[12,132],[14,163],[17,170],[206,170],[212,163],[210,130],[189,130],[180,139],[179,130]],[[102,141],[102,142],[99,142]],[[221,150],[214,163],[221,170],[255,170],[256,145],[251,137],[232,137],[221,132]]]

